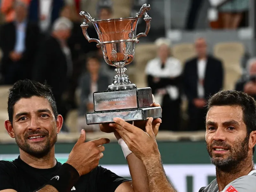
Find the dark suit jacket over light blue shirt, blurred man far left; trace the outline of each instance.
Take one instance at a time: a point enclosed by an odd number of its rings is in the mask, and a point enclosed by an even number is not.
[[[31,68],[34,62],[34,56],[37,51],[39,29],[34,23],[28,22],[26,26],[25,37],[25,52],[23,52],[20,63],[24,64],[24,67]],[[6,23],[1,27],[0,32],[0,47],[4,53],[2,58],[1,70],[5,73],[5,69],[8,65],[11,65],[13,61],[9,58],[9,54],[14,50],[16,43],[16,28],[15,23]]]

